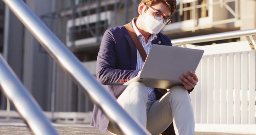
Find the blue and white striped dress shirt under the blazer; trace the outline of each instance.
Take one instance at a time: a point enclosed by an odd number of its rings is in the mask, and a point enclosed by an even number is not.
[[[151,34],[149,39],[148,39],[148,43],[146,43],[144,36],[140,33],[140,31],[138,30],[138,28],[136,27],[134,20],[136,20],[137,18],[134,18],[132,20],[132,27],[135,31],[135,33],[137,34],[140,43],[142,44],[146,54],[148,54],[150,48],[152,47],[152,40],[155,40],[157,38],[156,34]],[[142,69],[144,62],[140,56],[140,53],[137,49],[137,65],[136,65],[136,70],[140,70]],[[148,89],[148,100],[156,100],[156,94],[154,93],[154,88],[152,87],[147,87]]]

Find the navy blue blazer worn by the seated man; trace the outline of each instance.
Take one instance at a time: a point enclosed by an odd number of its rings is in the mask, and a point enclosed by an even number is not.
[[[172,46],[168,36],[161,33],[152,44],[161,44]],[[106,85],[106,90],[116,99],[126,88],[119,83],[120,79],[132,79],[137,76],[137,48],[128,31],[124,26],[110,28],[106,30],[100,44],[100,51],[97,57],[96,76],[100,83]],[[155,89],[157,98],[162,95]],[[104,113],[94,106],[91,125],[99,128],[105,133],[108,127],[109,119]]]

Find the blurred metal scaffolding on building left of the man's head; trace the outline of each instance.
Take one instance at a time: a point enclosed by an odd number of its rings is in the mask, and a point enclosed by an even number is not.
[[[54,0],[51,2],[51,5],[55,5],[54,9],[41,16],[41,19],[43,21],[51,19],[51,23],[55,24],[48,24],[48,26],[54,26],[55,28],[50,28],[55,29],[55,34],[64,43],[70,42],[69,47],[74,47],[76,40],[84,38],[94,37],[95,43],[99,43],[110,26],[129,22],[132,16],[137,16],[140,0]],[[108,12],[111,12],[110,18],[102,20],[101,18],[108,16]],[[117,16],[120,12],[122,12],[122,19],[118,20]],[[69,41],[66,41],[66,38]]]

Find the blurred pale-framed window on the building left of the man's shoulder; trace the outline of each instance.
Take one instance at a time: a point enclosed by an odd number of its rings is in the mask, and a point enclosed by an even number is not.
[[[99,42],[111,22],[112,11],[91,14],[68,20],[66,44],[70,46],[83,46]]]

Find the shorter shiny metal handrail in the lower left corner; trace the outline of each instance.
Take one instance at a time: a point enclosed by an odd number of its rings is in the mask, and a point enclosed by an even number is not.
[[[12,101],[20,115],[27,121],[34,134],[58,135],[36,100],[22,85],[2,55],[0,55],[0,87],[6,97]]]

